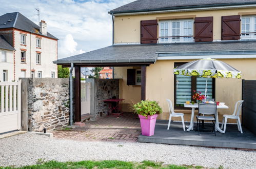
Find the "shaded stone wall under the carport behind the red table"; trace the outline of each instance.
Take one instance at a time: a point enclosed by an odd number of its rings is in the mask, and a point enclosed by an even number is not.
[[[103,101],[119,98],[120,79],[87,79],[91,82],[91,117],[93,119],[107,115],[108,105]]]

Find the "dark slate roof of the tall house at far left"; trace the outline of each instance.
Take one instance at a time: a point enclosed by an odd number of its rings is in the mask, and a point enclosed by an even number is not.
[[[53,39],[57,39],[55,36],[47,32],[47,35],[43,35],[40,32],[40,27],[29,20],[26,16],[19,12],[6,13],[0,16],[0,29],[4,28],[16,28],[23,31],[28,31],[42,36],[47,36]]]

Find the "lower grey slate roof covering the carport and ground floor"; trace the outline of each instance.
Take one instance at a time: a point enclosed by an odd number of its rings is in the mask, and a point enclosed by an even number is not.
[[[181,51],[182,50],[182,51]],[[152,44],[152,45],[113,45],[91,52],[70,56],[54,61],[55,64],[109,64],[132,62],[154,63],[157,56],[164,54],[179,53],[191,54],[204,52],[203,54],[243,54],[250,52],[256,54],[256,40],[253,41],[216,41],[207,43],[176,43],[176,44]],[[233,52],[233,53],[232,53]]]

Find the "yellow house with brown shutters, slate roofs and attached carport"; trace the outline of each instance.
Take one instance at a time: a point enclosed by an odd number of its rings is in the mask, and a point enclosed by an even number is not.
[[[109,14],[111,46],[54,63],[74,65],[76,71],[114,67],[114,78],[122,79],[123,111],[131,112],[132,102],[156,100],[163,108],[159,119],[168,119],[169,98],[175,111],[185,113],[189,121],[191,110],[183,103],[191,101],[193,90],[204,91],[206,80],[175,76],[173,68],[195,59],[219,59],[242,71],[242,79],[256,79],[255,1],[138,0]],[[220,119],[224,113],[232,114],[235,102],[242,99],[242,79],[208,79],[208,98],[229,106],[219,111]],[[78,107],[75,112],[79,121]]]

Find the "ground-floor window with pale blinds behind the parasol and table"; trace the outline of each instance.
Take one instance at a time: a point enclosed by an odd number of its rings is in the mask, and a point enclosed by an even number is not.
[[[175,63],[174,67],[181,66],[185,63]],[[214,98],[214,78],[207,78],[207,98]],[[175,108],[184,108],[186,101],[192,101],[193,91],[205,93],[206,78],[191,77],[184,75],[174,75],[174,99]],[[195,100],[194,100],[195,101]]]

